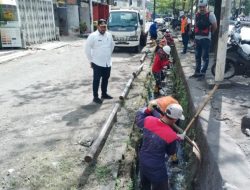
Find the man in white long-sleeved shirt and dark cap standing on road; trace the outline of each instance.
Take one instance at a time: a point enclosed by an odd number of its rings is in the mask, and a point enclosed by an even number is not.
[[[112,35],[106,30],[106,20],[98,20],[97,30],[89,35],[85,48],[85,53],[93,69],[93,101],[98,104],[101,104],[103,99],[112,99],[112,96],[107,94],[107,87],[112,66],[111,55],[114,50],[114,41]],[[98,96],[101,78],[102,99]]]

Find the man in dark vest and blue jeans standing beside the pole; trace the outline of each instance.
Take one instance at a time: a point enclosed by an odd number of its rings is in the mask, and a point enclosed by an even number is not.
[[[207,0],[199,0],[198,7],[194,28],[196,68],[191,77],[204,79],[209,63],[211,33],[217,29],[217,21],[214,13],[207,10]]]

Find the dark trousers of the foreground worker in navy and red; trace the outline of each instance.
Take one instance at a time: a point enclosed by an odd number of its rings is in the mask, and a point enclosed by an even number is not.
[[[141,174],[141,190],[168,190],[168,179],[159,183],[152,183],[143,174]]]

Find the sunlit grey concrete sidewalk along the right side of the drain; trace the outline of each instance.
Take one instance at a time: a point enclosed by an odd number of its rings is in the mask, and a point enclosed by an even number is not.
[[[199,81],[189,78],[195,69],[194,54],[180,54],[182,47],[178,42],[177,51],[195,113],[210,91],[213,59],[210,58],[206,79]],[[241,129],[242,117],[250,108],[250,79],[237,76],[226,82],[227,88],[219,87],[196,122],[196,140],[202,152],[197,189],[250,187],[250,137]]]

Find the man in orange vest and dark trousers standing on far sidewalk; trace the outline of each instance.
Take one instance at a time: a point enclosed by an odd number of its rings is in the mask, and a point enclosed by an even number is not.
[[[187,53],[189,34],[191,33],[191,20],[185,14],[181,17],[181,37],[183,43],[182,54]]]

